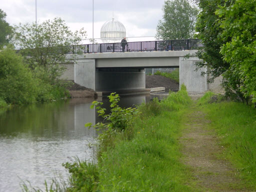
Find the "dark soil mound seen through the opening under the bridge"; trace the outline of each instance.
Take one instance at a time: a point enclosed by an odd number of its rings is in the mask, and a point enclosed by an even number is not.
[[[146,75],[146,88],[154,88],[159,86],[164,86],[165,91],[168,92],[171,91],[178,91],[179,90],[179,84],[165,76],[161,75]]]

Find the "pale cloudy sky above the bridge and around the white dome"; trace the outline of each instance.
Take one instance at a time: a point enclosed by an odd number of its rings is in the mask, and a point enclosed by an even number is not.
[[[36,0],[37,22],[60,17],[72,31],[84,27],[86,38],[92,38],[92,1],[94,38],[100,37],[102,24],[112,16],[125,26],[127,37],[155,36],[163,15],[164,0]],[[35,21],[35,0],[0,0],[0,9],[11,25]]]

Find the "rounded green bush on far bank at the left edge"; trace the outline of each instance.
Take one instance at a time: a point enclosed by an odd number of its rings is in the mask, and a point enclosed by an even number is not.
[[[22,57],[11,48],[0,51],[0,97],[7,103],[29,103],[36,100],[36,79]]]

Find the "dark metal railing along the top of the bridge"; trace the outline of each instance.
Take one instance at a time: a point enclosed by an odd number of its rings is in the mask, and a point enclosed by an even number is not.
[[[191,50],[202,47],[200,39],[175,39],[127,42],[124,51]],[[121,42],[72,45],[72,52],[122,52]],[[70,52],[70,53],[72,53]]]

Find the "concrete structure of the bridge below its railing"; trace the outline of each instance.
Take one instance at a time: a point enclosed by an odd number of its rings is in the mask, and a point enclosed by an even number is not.
[[[95,91],[136,90],[145,88],[145,68],[179,68],[179,86],[189,92],[204,92],[215,85],[207,83],[206,68],[195,71],[196,57],[185,58],[197,50],[83,53],[74,63],[65,64],[62,78]]]

